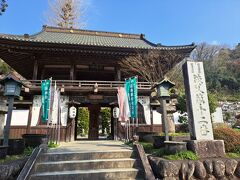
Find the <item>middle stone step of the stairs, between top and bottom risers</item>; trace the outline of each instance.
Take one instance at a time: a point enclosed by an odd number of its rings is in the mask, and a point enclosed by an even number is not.
[[[88,169],[112,169],[140,167],[136,159],[96,159],[96,160],[71,160],[71,161],[47,161],[37,163],[35,172],[74,171]]]

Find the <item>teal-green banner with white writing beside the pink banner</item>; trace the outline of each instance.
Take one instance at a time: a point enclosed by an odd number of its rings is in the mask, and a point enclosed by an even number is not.
[[[131,118],[137,118],[138,117],[137,77],[127,79],[125,81],[125,88],[128,96]]]

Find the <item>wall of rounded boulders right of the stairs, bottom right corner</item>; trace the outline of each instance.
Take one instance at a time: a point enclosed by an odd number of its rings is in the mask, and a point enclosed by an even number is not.
[[[148,156],[156,178],[163,180],[240,179],[240,159],[214,158],[205,160],[169,161]]]

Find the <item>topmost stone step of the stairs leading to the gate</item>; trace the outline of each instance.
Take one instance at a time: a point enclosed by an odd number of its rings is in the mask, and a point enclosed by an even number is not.
[[[121,151],[92,151],[92,152],[51,152],[40,157],[40,162],[46,161],[70,161],[70,160],[94,160],[94,159],[118,159],[134,158],[136,154],[132,150]]]

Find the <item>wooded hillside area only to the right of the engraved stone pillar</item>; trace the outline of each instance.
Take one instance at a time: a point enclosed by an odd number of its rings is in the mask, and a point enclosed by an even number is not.
[[[240,101],[240,44],[233,50],[222,48],[204,61],[208,90],[221,100]]]

